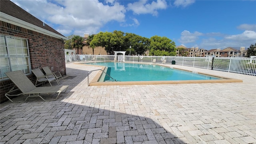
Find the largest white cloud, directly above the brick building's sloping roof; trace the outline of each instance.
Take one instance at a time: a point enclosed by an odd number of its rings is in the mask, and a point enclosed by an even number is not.
[[[98,0],[12,0],[12,2],[48,25],[54,25],[55,29],[63,34],[67,34],[69,30],[80,36],[84,33],[95,34],[110,21],[125,21],[125,7],[113,0],[108,0],[111,5],[103,4]]]

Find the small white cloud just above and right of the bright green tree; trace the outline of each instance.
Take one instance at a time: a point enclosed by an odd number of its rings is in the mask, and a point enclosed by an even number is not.
[[[184,30],[181,33],[180,39],[178,41],[184,44],[195,42],[198,39],[198,36],[202,36],[202,35],[203,34],[201,32],[190,33],[188,30]]]

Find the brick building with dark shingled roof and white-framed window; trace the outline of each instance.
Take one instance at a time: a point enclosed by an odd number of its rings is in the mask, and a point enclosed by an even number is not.
[[[0,4],[0,100],[14,86],[5,72],[22,70],[35,83],[32,69],[48,66],[66,75],[65,36],[13,2]],[[41,69],[42,70],[42,69]]]

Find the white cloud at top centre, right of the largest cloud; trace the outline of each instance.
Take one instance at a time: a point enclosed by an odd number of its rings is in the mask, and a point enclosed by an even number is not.
[[[150,1],[147,3],[147,0],[140,0],[138,2],[129,3],[127,5],[127,10],[132,10],[134,14],[152,14],[157,16],[157,10],[166,9],[167,4],[165,0]]]

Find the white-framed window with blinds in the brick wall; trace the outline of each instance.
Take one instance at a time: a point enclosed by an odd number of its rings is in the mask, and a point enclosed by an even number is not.
[[[21,70],[30,74],[30,68],[28,41],[0,35],[0,80],[8,78],[5,72]]]

